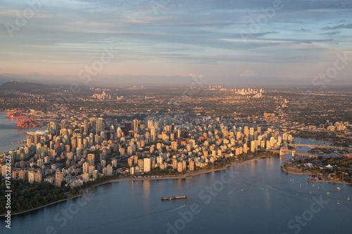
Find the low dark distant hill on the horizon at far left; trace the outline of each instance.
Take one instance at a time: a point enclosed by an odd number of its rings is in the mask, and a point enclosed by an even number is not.
[[[0,90],[13,90],[24,93],[47,93],[57,89],[48,84],[38,84],[31,82],[6,82],[0,85]]]

